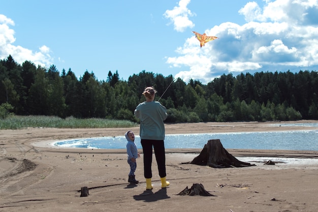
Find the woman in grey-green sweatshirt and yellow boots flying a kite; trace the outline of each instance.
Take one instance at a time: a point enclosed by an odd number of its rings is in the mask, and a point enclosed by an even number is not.
[[[161,188],[167,188],[170,183],[166,181],[166,155],[165,155],[165,125],[167,109],[160,102],[154,101],[156,90],[146,87],[142,93],[146,101],[140,103],[135,109],[135,116],[140,119],[140,138],[144,154],[144,176],[146,190],[153,189],[151,185],[152,147],[161,178]]]

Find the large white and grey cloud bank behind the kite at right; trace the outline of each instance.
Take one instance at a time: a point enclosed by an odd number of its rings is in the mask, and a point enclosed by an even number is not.
[[[266,1],[263,8],[249,2],[238,12],[245,24],[206,29],[219,39],[200,49],[193,36],[177,48],[178,56],[167,57],[182,69],[175,77],[207,83],[231,72],[318,70],[318,0]]]

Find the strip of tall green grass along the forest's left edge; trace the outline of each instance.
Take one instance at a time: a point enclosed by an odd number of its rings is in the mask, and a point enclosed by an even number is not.
[[[17,130],[27,127],[47,128],[126,128],[136,127],[136,123],[129,120],[114,120],[104,118],[74,118],[65,119],[57,116],[10,116],[0,119],[0,130]]]

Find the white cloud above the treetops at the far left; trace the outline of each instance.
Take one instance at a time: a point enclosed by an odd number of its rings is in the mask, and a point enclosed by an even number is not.
[[[50,48],[43,45],[39,51],[33,51],[15,46],[14,30],[9,26],[14,25],[14,21],[0,14],[0,59],[5,59],[11,55],[15,62],[22,64],[25,60],[29,60],[35,65],[49,67],[52,64],[53,58],[50,56]]]

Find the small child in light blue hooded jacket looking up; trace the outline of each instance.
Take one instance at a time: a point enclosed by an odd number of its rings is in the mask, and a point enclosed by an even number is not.
[[[137,167],[136,159],[140,158],[140,153],[138,153],[137,146],[135,144],[135,135],[133,131],[128,131],[125,133],[127,139],[127,155],[128,155],[128,164],[130,165],[130,172],[128,176],[129,183],[138,184],[139,181],[135,179],[135,171]]]

